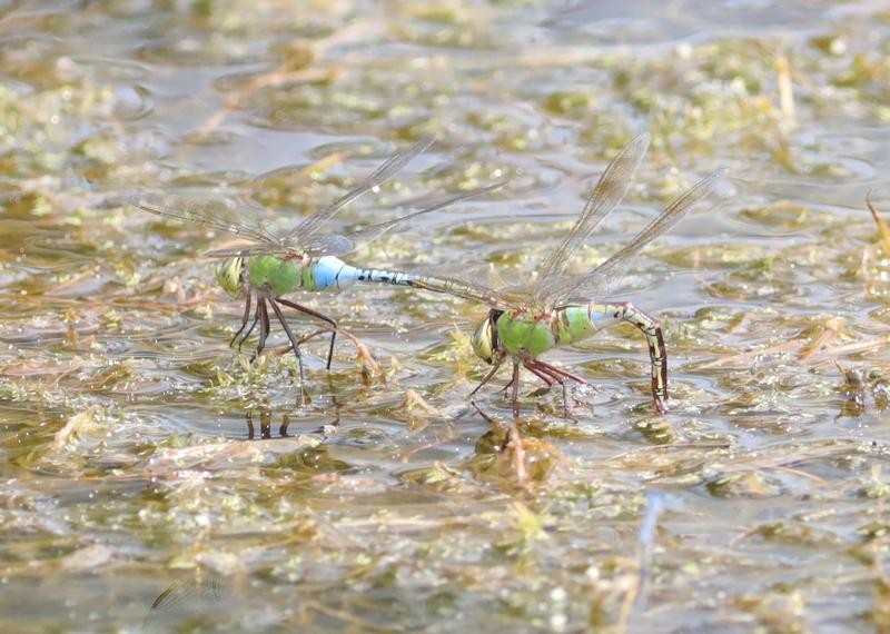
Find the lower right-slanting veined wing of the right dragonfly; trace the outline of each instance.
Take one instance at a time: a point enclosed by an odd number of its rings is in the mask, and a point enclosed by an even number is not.
[[[630,242],[613,254],[591,273],[566,276],[554,280],[547,301],[552,305],[587,301],[596,293],[609,290],[624,275],[626,267],[649,242],[670,231],[692,207],[700,202],[716,186],[726,170],[716,170],[688,189],[671,202],[654,220],[640,231]]]

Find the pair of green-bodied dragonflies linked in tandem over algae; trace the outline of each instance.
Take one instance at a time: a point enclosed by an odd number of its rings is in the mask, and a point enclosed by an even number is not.
[[[446,293],[486,304],[490,307],[488,315],[476,328],[472,344],[475,354],[491,365],[491,369],[471,396],[494,378],[506,359],[511,359],[513,376],[507,387],[512,387],[511,400],[514,409],[517,407],[521,367],[548,387],[562,386],[565,397],[566,383],[586,382],[573,373],[541,360],[540,357],[556,346],[578,341],[613,324],[621,321],[633,324],[643,333],[649,345],[652,363],[652,398],[655,409],[659,413],[666,412],[668,353],[657,319],[633,304],[607,303],[595,298],[607,294],[614,287],[627,265],[643,247],[670,230],[696,202],[708,196],[723,171],[711,174],[685,191],[623,248],[593,270],[582,275],[566,274],[566,265],[624,198],[633,175],[649,148],[647,133],[633,139],[606,167],[581,217],[550,255],[531,284],[493,288],[469,279],[468,276],[448,277],[359,268],[339,259],[339,256],[354,250],[357,244],[372,241],[397,225],[482,196],[503,185],[496,184],[453,196],[406,216],[350,234],[324,232],[325,225],[337,211],[390,179],[432,142],[432,139],[425,139],[396,153],[353,190],[305,218],[288,232],[276,234],[258,224],[228,220],[214,211],[209,202],[188,201],[176,197],[157,199],[144,197],[136,202],[136,206],[159,216],[201,224],[249,241],[247,246],[207,254],[210,257],[224,258],[217,269],[217,280],[229,295],[243,298],[245,303],[241,327],[233,337],[231,344],[236,341],[243,344],[259,326],[257,354],[263,351],[270,331],[269,308],[271,308],[297,357],[300,394],[303,394],[304,370],[299,340],[290,329],[283,308],[304,313],[325,321],[330,327],[328,369],[334,353],[337,324],[330,317],[285,296],[296,290],[342,289],[360,281]]]

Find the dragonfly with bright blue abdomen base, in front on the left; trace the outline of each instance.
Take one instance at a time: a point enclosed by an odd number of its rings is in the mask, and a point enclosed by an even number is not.
[[[264,350],[271,329],[269,317],[269,309],[271,309],[297,358],[300,390],[303,390],[305,379],[303,354],[299,340],[285,317],[284,308],[308,315],[327,324],[330,328],[327,369],[330,369],[338,327],[337,323],[327,315],[297,304],[285,296],[300,289],[339,290],[356,281],[406,286],[403,275],[398,271],[354,267],[342,260],[339,256],[355,250],[357,245],[379,238],[389,229],[418,216],[476,198],[503,186],[503,182],[496,182],[488,187],[451,196],[393,220],[352,232],[329,234],[324,231],[325,226],[337,211],[393,178],[408,162],[429,148],[433,141],[432,138],[424,138],[409,148],[395,153],[355,188],[327,207],[315,211],[286,232],[276,231],[260,222],[230,220],[228,216],[243,218],[253,214],[254,210],[229,207],[228,212],[222,215],[218,211],[218,201],[196,200],[180,196],[145,195],[137,198],[134,205],[157,216],[174,218],[186,224],[202,225],[247,240],[244,246],[205,254],[207,257],[221,259],[216,270],[219,286],[233,298],[244,300],[241,326],[235,333],[229,345],[234,346],[238,343],[238,349],[240,349],[259,325],[257,348],[254,355],[256,358]]]

